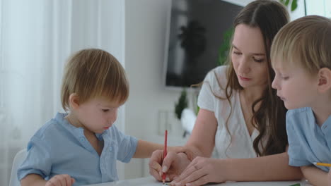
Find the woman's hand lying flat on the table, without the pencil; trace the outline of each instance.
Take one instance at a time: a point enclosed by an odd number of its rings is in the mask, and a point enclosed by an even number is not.
[[[221,160],[197,157],[182,172],[182,174],[173,180],[170,185],[204,185],[208,182],[224,182],[223,166]]]

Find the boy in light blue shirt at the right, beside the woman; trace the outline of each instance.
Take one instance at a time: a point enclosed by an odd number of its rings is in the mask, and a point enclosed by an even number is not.
[[[272,87],[287,109],[289,165],[313,185],[331,185],[331,20],[298,18],[277,33],[271,50]],[[329,172],[329,173],[327,173]]]

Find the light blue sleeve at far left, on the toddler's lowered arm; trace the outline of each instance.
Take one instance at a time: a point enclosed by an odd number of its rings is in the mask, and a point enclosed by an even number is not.
[[[18,180],[25,178],[29,174],[38,174],[42,178],[47,178],[51,171],[50,149],[37,137],[32,137],[27,147],[27,157],[18,168]]]

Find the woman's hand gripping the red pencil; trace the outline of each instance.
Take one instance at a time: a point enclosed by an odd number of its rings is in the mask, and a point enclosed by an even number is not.
[[[166,173],[166,181],[173,180],[180,175],[191,162],[187,159],[186,154],[177,154],[174,151],[169,151],[165,159],[163,159],[163,161],[162,159],[163,150],[154,151],[151,159],[149,159],[149,173],[159,181],[162,180],[163,173]]]

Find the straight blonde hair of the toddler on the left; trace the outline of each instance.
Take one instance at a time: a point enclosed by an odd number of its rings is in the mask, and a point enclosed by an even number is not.
[[[77,94],[83,103],[103,97],[123,104],[129,97],[129,82],[120,62],[101,49],[83,49],[69,58],[64,68],[61,101],[65,111],[70,109],[69,96]]]

